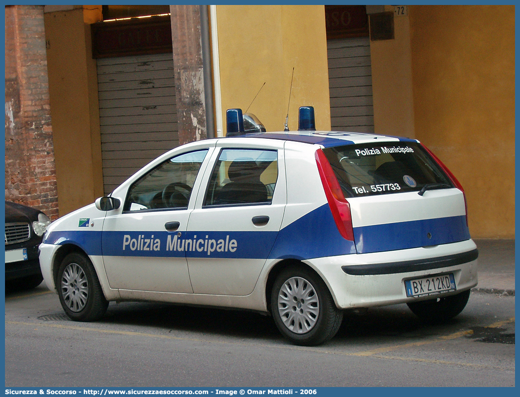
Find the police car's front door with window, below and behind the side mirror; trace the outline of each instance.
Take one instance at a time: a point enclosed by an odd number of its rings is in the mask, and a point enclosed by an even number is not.
[[[108,215],[103,224],[103,261],[111,288],[193,292],[186,257],[175,245],[187,228],[211,151],[192,149],[167,158],[123,192],[121,213]]]

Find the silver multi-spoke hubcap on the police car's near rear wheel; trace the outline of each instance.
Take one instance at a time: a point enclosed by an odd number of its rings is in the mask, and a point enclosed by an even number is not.
[[[320,312],[320,302],[314,287],[302,277],[291,277],[278,294],[278,312],[283,324],[296,334],[314,328]]]

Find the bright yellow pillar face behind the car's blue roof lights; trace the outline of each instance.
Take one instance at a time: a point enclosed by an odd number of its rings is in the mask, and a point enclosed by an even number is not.
[[[282,131],[294,68],[289,129],[314,106],[316,129],[330,129],[323,6],[217,6],[224,133],[226,110],[249,107],[268,131]]]

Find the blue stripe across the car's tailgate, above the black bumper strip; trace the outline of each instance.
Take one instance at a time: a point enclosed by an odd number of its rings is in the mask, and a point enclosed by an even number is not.
[[[354,238],[357,252],[368,254],[465,241],[470,231],[465,216],[454,216],[357,227]]]

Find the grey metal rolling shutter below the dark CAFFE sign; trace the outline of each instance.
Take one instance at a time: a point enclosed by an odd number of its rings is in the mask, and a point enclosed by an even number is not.
[[[105,194],[178,146],[172,54],[97,60]]]

